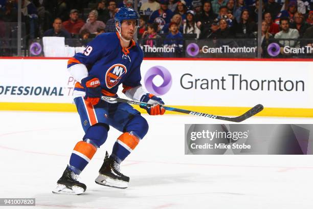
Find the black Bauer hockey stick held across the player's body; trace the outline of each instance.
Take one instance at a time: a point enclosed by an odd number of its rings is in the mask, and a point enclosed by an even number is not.
[[[132,101],[132,100],[127,100],[127,99],[122,99],[122,98],[115,98],[115,97],[109,97],[109,96],[101,96],[101,99],[104,101],[118,101],[118,102],[123,102],[123,103],[128,103],[131,105],[139,105],[139,106],[144,106],[144,107],[150,107],[152,105],[145,103],[145,102],[141,102],[141,101]],[[254,116],[255,114],[261,112],[263,110],[263,106],[262,105],[256,105],[253,108],[251,108],[250,110],[248,110],[247,112],[245,112],[244,114],[238,116],[238,117],[223,117],[223,116],[218,116],[218,115],[210,115],[207,113],[199,113],[199,112],[194,112],[194,111],[190,111],[190,110],[183,110],[183,109],[178,109],[178,108],[171,108],[171,107],[166,107],[163,106],[163,108],[165,110],[169,110],[169,111],[174,111],[174,112],[180,112],[180,113],[186,113],[186,114],[190,114],[190,115],[196,115],[196,116],[202,116],[202,117],[208,117],[208,118],[213,118],[213,119],[219,119],[219,120],[227,120],[227,121],[232,121],[232,122],[241,122],[245,119],[248,119],[252,116]]]

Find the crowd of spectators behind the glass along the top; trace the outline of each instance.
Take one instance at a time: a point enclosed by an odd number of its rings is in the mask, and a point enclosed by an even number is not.
[[[17,21],[17,2],[0,0],[0,23]],[[132,0],[20,0],[27,37],[90,38],[115,32],[119,7]],[[311,38],[313,5],[310,0],[139,0],[139,38],[197,39],[255,38],[262,1],[262,40]],[[266,30],[265,30],[266,29]],[[153,41],[146,41],[149,45]],[[167,46],[180,46],[167,40]]]

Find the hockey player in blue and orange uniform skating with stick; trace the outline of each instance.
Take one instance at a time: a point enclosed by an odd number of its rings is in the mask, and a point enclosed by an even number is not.
[[[136,148],[148,131],[147,121],[127,103],[109,103],[102,95],[117,97],[119,85],[133,100],[152,104],[149,115],[163,115],[161,98],[147,93],[140,84],[143,51],[132,39],[138,28],[138,14],[131,8],[120,8],[115,15],[117,33],[102,33],[68,61],[68,70],[78,81],[74,102],[85,135],[72,152],[70,163],[57,181],[54,193],[82,194],[86,185],[78,175],[105,142],[109,126],[123,132],[110,156],[105,154],[96,183],[125,189],[129,177],[120,171],[120,163]]]

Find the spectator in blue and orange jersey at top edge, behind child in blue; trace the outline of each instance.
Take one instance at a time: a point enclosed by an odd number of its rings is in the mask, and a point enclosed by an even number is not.
[[[154,11],[150,15],[149,23],[158,23],[158,25],[162,29],[165,24],[170,23],[173,15],[174,13],[168,9],[168,1],[160,0],[160,9]]]

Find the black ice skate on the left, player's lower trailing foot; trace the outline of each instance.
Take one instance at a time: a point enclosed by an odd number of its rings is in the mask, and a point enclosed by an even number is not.
[[[86,185],[77,181],[78,175],[66,167],[61,178],[57,181],[57,187],[52,192],[62,194],[80,195],[86,191]]]

